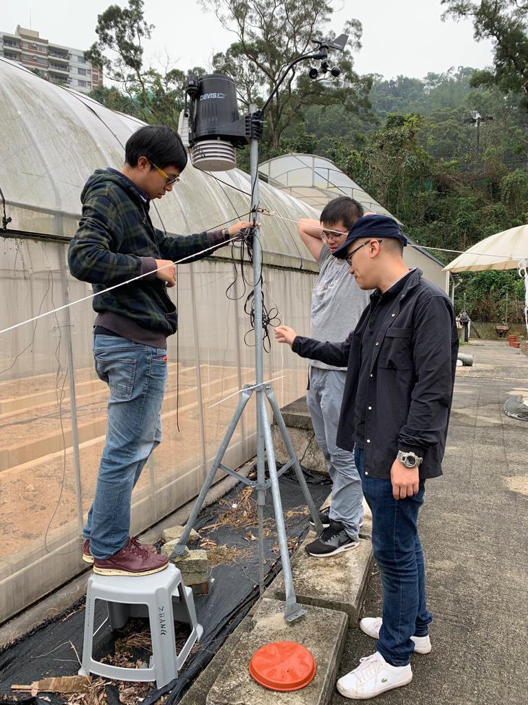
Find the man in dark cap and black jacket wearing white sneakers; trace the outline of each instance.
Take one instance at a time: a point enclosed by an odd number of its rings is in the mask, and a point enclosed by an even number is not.
[[[451,301],[403,262],[406,244],[394,219],[364,216],[334,252],[360,288],[375,290],[344,343],[275,329],[301,357],[347,366],[337,444],[354,448],[383,584],[383,617],[360,623],[377,651],[337,682],[351,699],[406,685],[410,655],[431,650],[417,516],[425,479],[441,475],[458,336]]]

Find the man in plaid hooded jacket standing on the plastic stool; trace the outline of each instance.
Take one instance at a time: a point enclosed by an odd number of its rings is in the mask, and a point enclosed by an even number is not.
[[[177,259],[201,259],[251,223],[222,231],[169,237],[153,227],[150,202],[172,191],[187,164],[180,135],[147,125],[125,145],[120,171],[98,169],[81,194],[82,218],[68,264],[94,292],[96,372],[110,388],[106,445],[94,503],[83,530],[83,560],[101,575],[150,575],[168,565],[154,546],[130,537],[130,504],[149,455],[161,442],[161,404],[167,380],[166,340],[177,311],[166,287],[175,286]],[[187,259],[190,262],[191,259]]]

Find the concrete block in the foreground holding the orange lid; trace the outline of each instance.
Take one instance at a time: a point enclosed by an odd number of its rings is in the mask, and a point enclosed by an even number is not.
[[[284,602],[263,598],[251,617],[251,630],[234,644],[222,646],[220,651],[230,648],[230,653],[207,694],[207,705],[327,705],[344,649],[346,614],[310,606],[302,618],[287,623],[283,618],[285,607]],[[255,651],[279,641],[303,644],[315,658],[315,678],[301,690],[268,690],[249,675],[249,661]]]

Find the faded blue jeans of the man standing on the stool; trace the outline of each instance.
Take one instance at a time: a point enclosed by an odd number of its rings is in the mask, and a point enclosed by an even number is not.
[[[114,336],[94,336],[95,369],[110,388],[106,445],[82,532],[95,558],[109,558],[130,533],[132,489],[161,442],[166,351]]]

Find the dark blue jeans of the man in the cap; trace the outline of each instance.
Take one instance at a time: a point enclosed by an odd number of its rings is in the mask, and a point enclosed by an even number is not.
[[[414,651],[410,637],[429,633],[432,614],[425,604],[425,566],[418,536],[418,494],[394,499],[390,480],[365,476],[363,450],[354,450],[363,494],[372,512],[372,549],[383,585],[383,624],[376,648],[392,666],[406,666]]]

